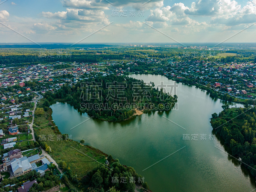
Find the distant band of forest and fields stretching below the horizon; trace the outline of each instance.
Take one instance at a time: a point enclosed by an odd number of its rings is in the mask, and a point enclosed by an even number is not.
[[[83,48],[83,47],[81,47]],[[198,52],[193,57],[193,52]],[[200,51],[194,49],[178,48],[128,48],[101,46],[98,48],[66,48],[58,49],[56,46],[46,48],[0,48],[0,65],[7,67],[31,65],[46,62],[104,62],[107,60],[123,59],[146,59],[150,58],[171,58],[173,61],[205,60],[221,62],[256,62],[256,52],[254,50],[229,51],[237,53],[236,56],[221,58],[211,57],[213,51]],[[188,54],[187,54],[188,53]],[[214,54],[221,51],[214,51]],[[188,56],[189,55],[189,56]],[[144,69],[145,70],[145,69]]]

